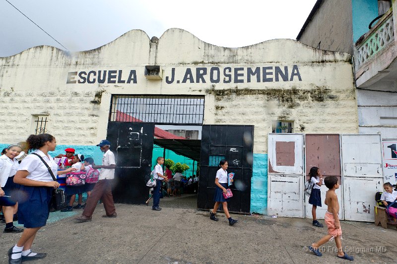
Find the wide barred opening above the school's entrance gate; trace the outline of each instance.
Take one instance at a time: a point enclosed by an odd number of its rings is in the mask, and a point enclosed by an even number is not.
[[[201,125],[204,96],[113,95],[110,122]]]

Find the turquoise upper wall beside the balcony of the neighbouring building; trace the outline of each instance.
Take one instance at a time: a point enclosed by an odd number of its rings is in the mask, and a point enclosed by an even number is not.
[[[353,42],[369,31],[368,25],[378,16],[378,0],[352,0]]]

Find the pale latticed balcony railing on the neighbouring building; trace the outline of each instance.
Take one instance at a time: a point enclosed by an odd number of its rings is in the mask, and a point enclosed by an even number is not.
[[[356,42],[356,69],[367,63],[393,41],[393,13],[387,12],[368,33]]]

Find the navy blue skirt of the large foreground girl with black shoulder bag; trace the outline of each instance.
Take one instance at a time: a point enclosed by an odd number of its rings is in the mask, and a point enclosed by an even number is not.
[[[20,199],[18,205],[18,223],[25,228],[36,228],[45,226],[50,214],[50,202],[52,198],[52,187],[20,188]]]

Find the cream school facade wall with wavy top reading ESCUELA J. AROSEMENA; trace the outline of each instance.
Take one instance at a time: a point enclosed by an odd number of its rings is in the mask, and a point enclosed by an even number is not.
[[[161,66],[163,79],[146,79],[146,65]],[[99,70],[116,75],[104,83],[70,75]],[[32,115],[47,115],[59,151],[67,145],[87,156],[97,155],[94,145],[106,138],[112,94],[204,95],[204,124],[255,126],[251,205],[260,213],[267,207],[273,121],[293,121],[294,132],[305,133],[356,133],[358,127],[349,54],[289,39],[224,48],[175,28],[152,40],[132,30],[74,54],[45,46],[0,58],[0,94],[0,143],[26,139]]]

